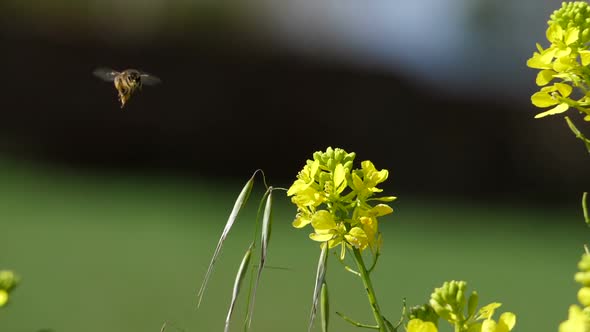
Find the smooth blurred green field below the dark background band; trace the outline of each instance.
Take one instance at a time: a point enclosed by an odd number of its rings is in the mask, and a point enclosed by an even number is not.
[[[23,277],[0,316],[2,331],[158,331],[164,321],[171,331],[222,329],[233,277],[251,239],[256,192],[195,310],[240,184],[66,173],[6,160],[0,170],[6,193],[0,200],[2,264]],[[587,240],[577,206],[402,196],[394,207],[382,222],[384,253],[373,274],[391,319],[402,298],[421,304],[450,279],[467,280],[481,303],[503,302],[503,310],[518,314],[520,331],[551,330],[575,302],[573,274]],[[319,250],[307,239],[309,230],[290,226],[294,212],[286,197],[276,197],[268,264],[289,270],[263,274],[256,331],[306,329]],[[333,310],[370,322],[358,280],[334,257],[329,268]],[[237,317],[244,301],[239,305]],[[336,316],[332,321],[335,331],[355,330]]]

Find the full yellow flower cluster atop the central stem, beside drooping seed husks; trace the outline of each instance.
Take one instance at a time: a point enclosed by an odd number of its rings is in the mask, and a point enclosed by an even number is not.
[[[377,218],[393,212],[384,203],[395,199],[374,197],[382,191],[377,185],[387,180],[389,172],[377,170],[368,160],[360,169],[352,169],[355,156],[339,148],[314,153],[287,192],[297,205],[293,226],[311,224],[310,238],[327,242],[330,248],[341,245],[342,258],[347,246],[360,250],[380,246]],[[372,201],[378,203],[371,205]]]

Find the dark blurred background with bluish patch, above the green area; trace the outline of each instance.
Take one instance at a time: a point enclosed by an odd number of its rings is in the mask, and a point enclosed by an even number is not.
[[[291,181],[338,146],[398,192],[568,201],[587,155],[562,119],[533,119],[525,66],[558,5],[5,0],[0,151]],[[97,66],[164,84],[120,110]]]

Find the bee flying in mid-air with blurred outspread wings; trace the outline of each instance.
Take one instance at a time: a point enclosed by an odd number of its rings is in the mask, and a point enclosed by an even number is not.
[[[93,74],[103,81],[114,82],[115,89],[119,93],[121,108],[125,107],[133,93],[141,91],[144,84],[156,85],[161,82],[156,76],[137,69],[125,69],[119,72],[110,68],[97,68]]]

